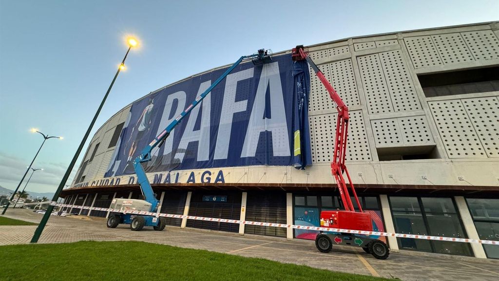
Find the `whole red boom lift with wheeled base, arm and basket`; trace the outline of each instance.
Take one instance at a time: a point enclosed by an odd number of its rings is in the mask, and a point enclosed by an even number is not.
[[[345,210],[321,211],[320,226],[372,231],[373,222],[371,219],[371,215],[367,212],[362,211],[362,206],[360,205],[359,198],[357,197],[357,193],[355,192],[355,187],[353,186],[352,179],[350,178],[350,174],[348,173],[348,169],[345,165],[349,120],[348,107],[331,86],[331,84],[327,81],[326,77],[324,76],[322,71],[320,71],[319,67],[317,67],[310,56],[308,56],[308,52],[307,50],[305,50],[303,45],[297,45],[295,48],[293,48],[291,56],[293,60],[306,60],[308,62],[317,77],[319,77],[319,80],[326,87],[327,91],[329,92],[329,96],[334,101],[334,103],[336,103],[336,109],[338,110],[338,119],[336,121],[336,136],[334,138],[334,152],[331,162],[331,173],[333,174],[334,179],[336,180],[336,184],[338,185],[341,201],[343,202]],[[357,202],[359,211],[355,211],[352,200],[350,198],[347,184],[345,182],[345,178],[343,177],[343,173],[345,173],[348,178],[350,190],[352,191],[355,201]],[[390,254],[390,250],[383,241],[369,238],[365,235],[355,235],[350,233],[320,233],[315,238],[315,245],[319,251],[329,252],[331,251],[333,241],[338,245],[362,247],[364,251],[371,253],[374,257],[379,259],[385,259]]]

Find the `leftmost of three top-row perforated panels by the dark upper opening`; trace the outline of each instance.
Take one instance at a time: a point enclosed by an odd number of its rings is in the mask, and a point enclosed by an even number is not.
[[[404,42],[414,68],[442,64],[437,48],[430,36],[405,37]]]

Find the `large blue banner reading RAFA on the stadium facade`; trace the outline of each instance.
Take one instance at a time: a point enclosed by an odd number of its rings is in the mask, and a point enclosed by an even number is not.
[[[132,104],[105,176],[134,173],[142,149],[227,68],[201,74]],[[311,164],[309,73],[291,55],[237,66],[155,148],[147,172],[248,165]]]

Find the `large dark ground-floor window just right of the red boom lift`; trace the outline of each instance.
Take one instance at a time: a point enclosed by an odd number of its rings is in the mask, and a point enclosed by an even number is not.
[[[452,198],[390,196],[390,206],[397,233],[467,238]],[[402,249],[471,255],[467,243],[397,240]]]

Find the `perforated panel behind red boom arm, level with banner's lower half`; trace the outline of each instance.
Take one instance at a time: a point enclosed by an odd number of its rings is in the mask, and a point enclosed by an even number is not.
[[[337,113],[315,115],[314,126],[314,158],[315,162],[331,162],[334,137],[336,135]],[[350,111],[350,124],[348,127],[347,160],[369,161],[371,152],[367,141],[364,119],[361,110]]]

